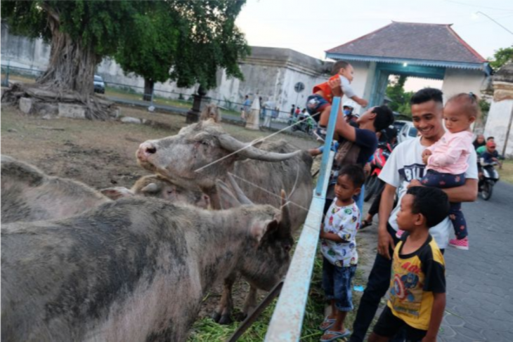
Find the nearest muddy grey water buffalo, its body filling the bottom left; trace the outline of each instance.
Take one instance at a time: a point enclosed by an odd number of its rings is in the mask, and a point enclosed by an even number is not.
[[[288,216],[269,205],[206,211],[131,197],[4,225],[1,340],[185,341],[203,296],[242,256],[278,262],[255,253],[282,249]]]

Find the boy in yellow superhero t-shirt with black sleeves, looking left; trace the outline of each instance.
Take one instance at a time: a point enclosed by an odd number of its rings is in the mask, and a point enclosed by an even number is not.
[[[436,341],[446,308],[446,277],[429,228],[448,213],[448,197],[440,189],[413,187],[404,195],[397,224],[405,234],[394,249],[390,299],[370,342],[389,341],[403,327],[407,341]]]

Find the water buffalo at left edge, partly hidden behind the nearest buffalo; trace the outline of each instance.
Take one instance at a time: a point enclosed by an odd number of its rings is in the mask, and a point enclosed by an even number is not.
[[[207,197],[195,188],[183,188],[172,180],[145,176],[134,187],[110,188],[111,198],[151,196],[207,206]],[[111,199],[84,183],[46,175],[35,166],[6,155],[1,156],[1,221],[39,221],[77,215]]]

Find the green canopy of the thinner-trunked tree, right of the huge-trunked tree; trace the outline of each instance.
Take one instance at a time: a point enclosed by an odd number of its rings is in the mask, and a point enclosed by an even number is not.
[[[238,60],[249,47],[235,19],[244,3],[156,1],[144,15],[136,15],[115,59],[125,72],[144,77],[151,87],[171,79],[179,87],[199,83],[214,88],[219,68],[228,77],[242,78]]]

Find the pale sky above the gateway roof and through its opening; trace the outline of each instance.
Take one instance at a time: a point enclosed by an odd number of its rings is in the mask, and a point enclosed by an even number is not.
[[[485,15],[481,14],[484,13]],[[342,45],[391,20],[453,24],[453,29],[484,58],[513,45],[511,0],[247,0],[237,25],[250,46],[291,48],[325,60],[324,51]],[[408,79],[406,91],[441,81]]]

